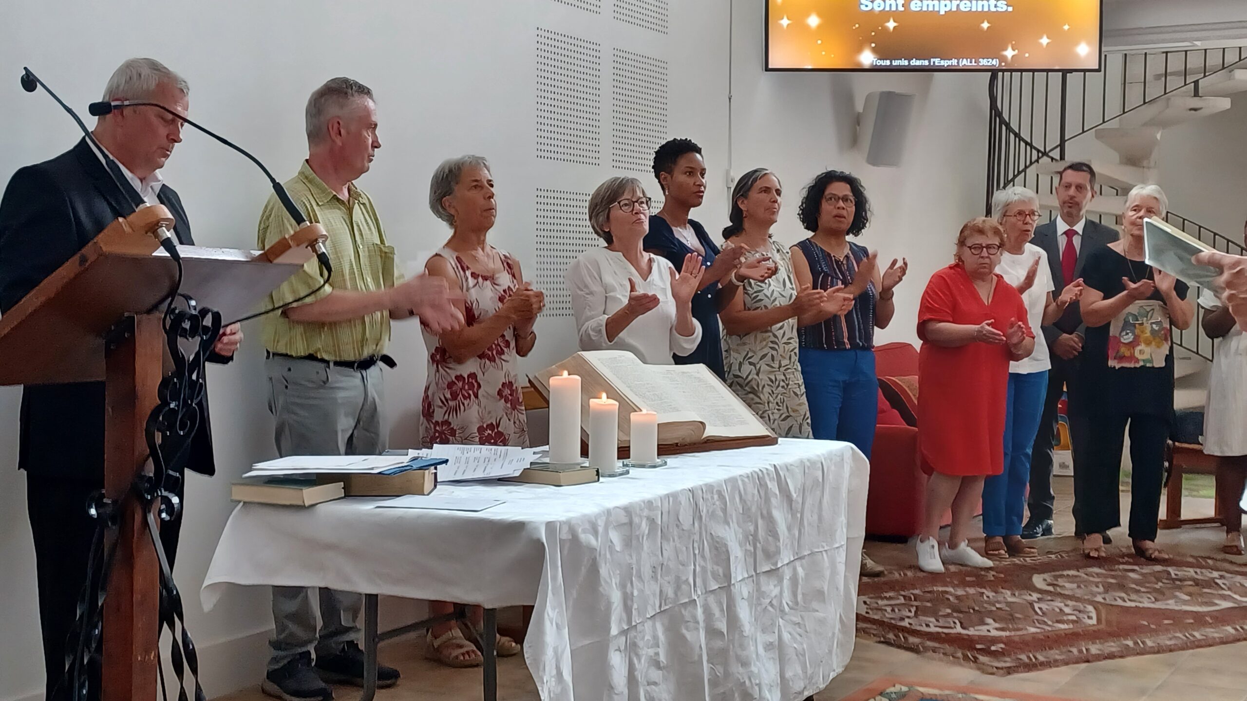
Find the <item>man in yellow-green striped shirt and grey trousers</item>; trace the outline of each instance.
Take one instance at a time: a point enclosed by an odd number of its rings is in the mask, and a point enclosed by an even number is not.
[[[420,317],[430,328],[446,331],[463,326],[463,317],[450,303],[444,279],[421,274],[402,281],[377,210],[354,185],[380,148],[372,90],[335,77],[312,94],[306,120],[308,158],[286,190],[308,221],[329,234],[325,248],[333,274],[320,287],[318,263],[309,261],[268,301],[279,306],[308,296],[264,318],[277,452],[379,454],[388,443],[380,365],[394,363],[385,355],[390,319]],[[277,197],[269,197],[259,218],[259,247],[293,230]],[[319,630],[318,607],[324,621]],[[325,682],[362,685],[362,609],[363,596],[355,592],[320,589],[315,600],[307,587],[274,586],[276,632],[261,686],[264,694],[284,701],[329,701],[333,691]],[[387,687],[398,682],[399,674],[380,666],[377,676],[378,686]]]

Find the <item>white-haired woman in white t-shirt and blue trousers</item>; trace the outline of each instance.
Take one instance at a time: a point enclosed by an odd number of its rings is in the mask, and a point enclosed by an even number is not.
[[[1082,281],[1074,281],[1059,298],[1052,298],[1047,254],[1030,243],[1039,223],[1039,197],[1025,187],[1010,187],[996,192],[991,198],[991,210],[1005,230],[1005,248],[996,272],[1021,293],[1030,328],[1055,322],[1065,307],[1082,294]],[[983,484],[983,534],[989,558],[1036,554],[1021,539],[1021,523],[1026,509],[1026,486],[1030,484],[1030,454],[1044,413],[1047,370],[1051,367],[1044,343],[1036,343],[1029,358],[1009,365],[1005,469]]]

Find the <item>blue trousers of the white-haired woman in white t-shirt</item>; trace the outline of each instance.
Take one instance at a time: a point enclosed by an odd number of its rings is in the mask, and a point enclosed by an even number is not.
[[[1005,470],[983,483],[983,534],[1021,535],[1030,485],[1030,457],[1044,415],[1047,372],[1009,373],[1005,404]]]

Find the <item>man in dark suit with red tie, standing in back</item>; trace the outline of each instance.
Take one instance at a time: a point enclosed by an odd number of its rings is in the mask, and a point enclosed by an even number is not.
[[[1061,216],[1035,230],[1031,241],[1047,253],[1052,284],[1056,289],[1079,279],[1082,263],[1097,248],[1117,241],[1117,230],[1086,218],[1087,207],[1095,198],[1095,170],[1089,163],[1074,162],[1065,166],[1056,185],[1056,197]],[[1051,350],[1052,369],[1047,374],[1047,399],[1044,417],[1035,437],[1034,458],[1030,464],[1030,519],[1023,526],[1021,536],[1035,539],[1052,535],[1052,448],[1057,435],[1057,404],[1061,393],[1069,392],[1067,414],[1070,442],[1074,444],[1074,469],[1086,439],[1085,419],[1079,412],[1077,370],[1082,353],[1085,326],[1079,303],[1066,307],[1056,323],[1044,327],[1044,339]],[[1075,503],[1074,509],[1079,505]]]

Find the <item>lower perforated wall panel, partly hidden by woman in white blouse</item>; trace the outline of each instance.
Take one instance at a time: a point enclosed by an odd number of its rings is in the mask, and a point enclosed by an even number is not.
[[[542,317],[571,317],[567,268],[589,248],[602,244],[589,226],[589,192],[537,188],[534,283],[545,293]]]

